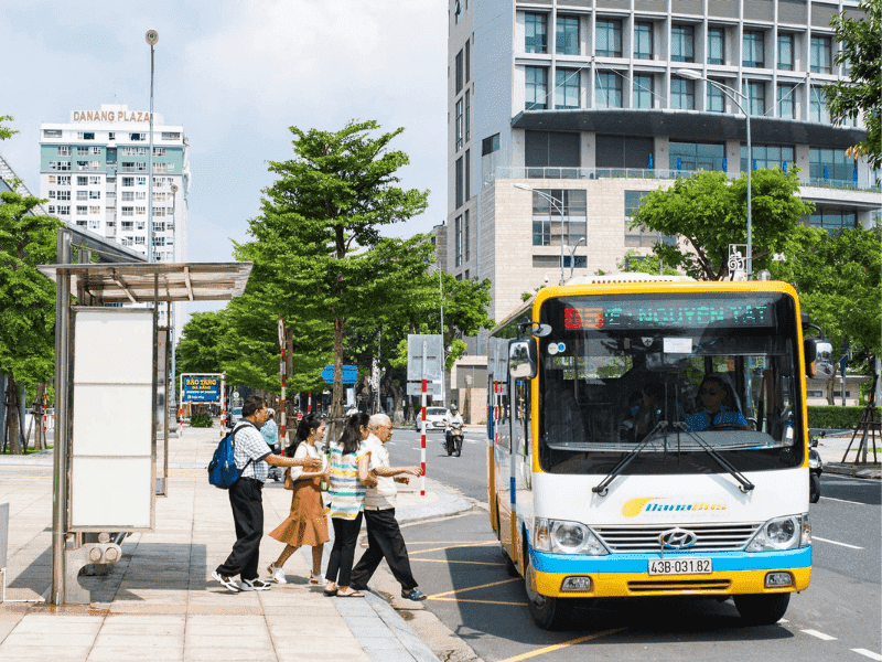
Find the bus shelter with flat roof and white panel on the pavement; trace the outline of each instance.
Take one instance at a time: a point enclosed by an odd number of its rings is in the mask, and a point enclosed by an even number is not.
[[[251,263],[72,264],[58,231],[51,601],[88,602],[77,576],[119,560],[126,533],[153,531],[168,488],[169,328],[175,301],[243,293]],[[76,295],[76,299],[73,299]],[[172,386],[173,388],[173,386]]]

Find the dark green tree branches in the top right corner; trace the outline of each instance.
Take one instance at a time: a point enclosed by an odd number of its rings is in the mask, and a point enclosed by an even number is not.
[[[839,124],[863,115],[867,140],[849,149],[849,156],[867,156],[873,168],[882,167],[882,0],[861,0],[867,19],[849,19],[836,14],[830,24],[835,42],[842,50],[833,62],[849,67],[851,81],[837,81],[824,88],[830,119]]]

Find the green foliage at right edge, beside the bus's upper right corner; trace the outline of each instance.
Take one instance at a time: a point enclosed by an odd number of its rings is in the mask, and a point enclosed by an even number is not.
[[[827,234],[803,227],[802,248],[785,263],[774,263],[772,275],[792,282],[802,309],[824,329],[835,349],[879,356],[882,351],[882,231],[842,229]]]

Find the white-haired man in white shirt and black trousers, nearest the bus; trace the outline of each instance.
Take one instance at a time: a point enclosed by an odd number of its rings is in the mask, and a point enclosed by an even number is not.
[[[426,596],[417,588],[417,580],[410,569],[407,546],[395,519],[396,482],[407,483],[410,476],[419,476],[419,467],[390,467],[386,442],[392,438],[392,421],[386,414],[375,414],[367,425],[370,435],[365,446],[370,450],[370,474],[377,478],[377,485],[365,493],[365,521],[367,522],[367,551],[352,569],[349,586],[355,590],[366,590],[367,583],[386,558],[389,569],[401,585],[401,597],[409,600],[424,600]]]

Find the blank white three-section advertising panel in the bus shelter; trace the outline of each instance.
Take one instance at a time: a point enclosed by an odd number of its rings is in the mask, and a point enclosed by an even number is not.
[[[74,312],[71,528],[153,526],[153,311]]]

